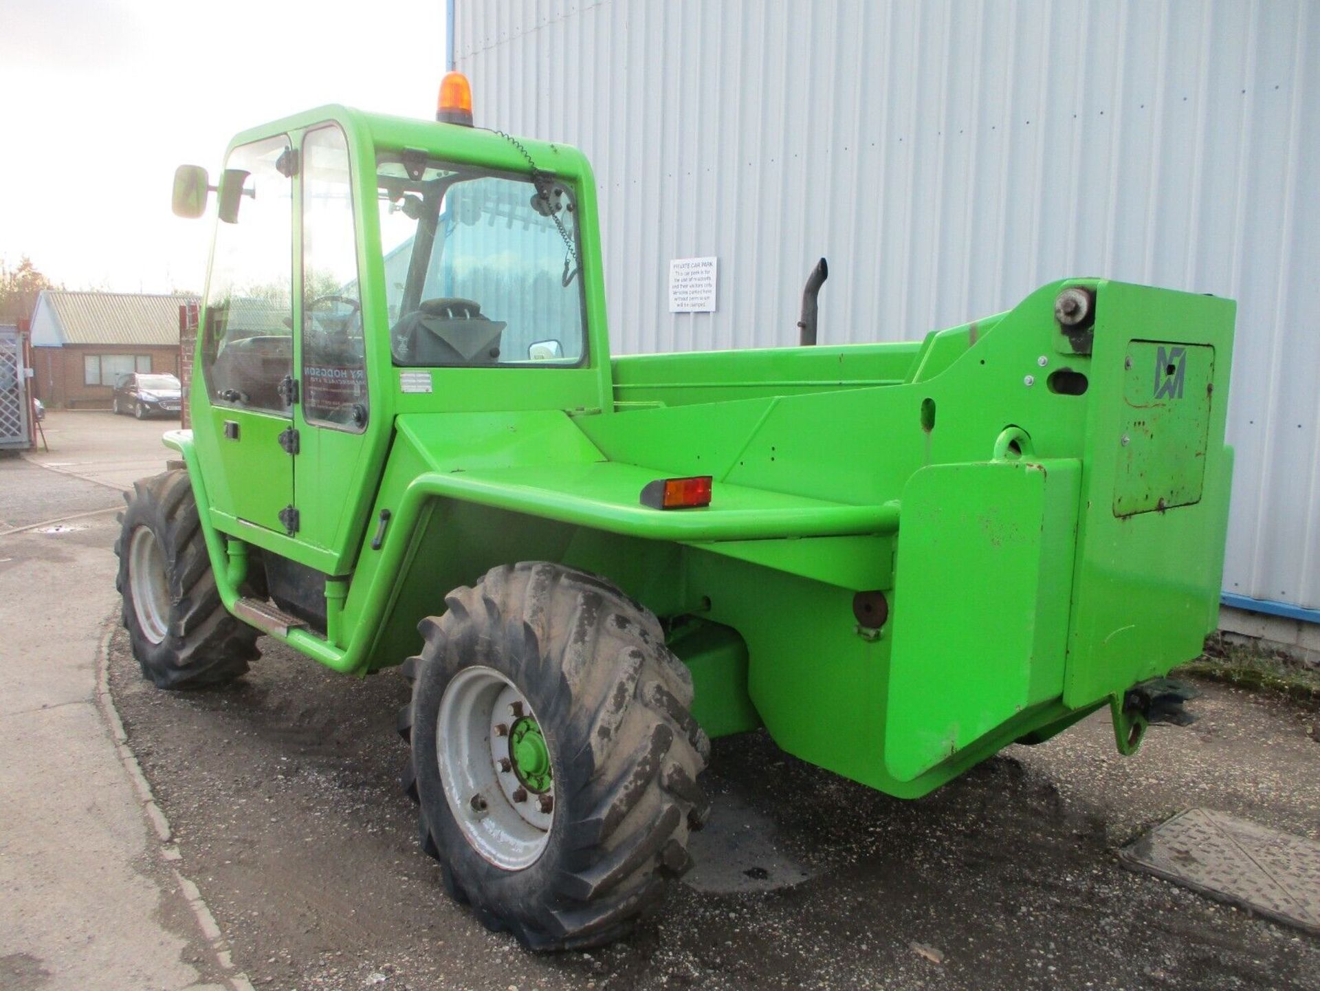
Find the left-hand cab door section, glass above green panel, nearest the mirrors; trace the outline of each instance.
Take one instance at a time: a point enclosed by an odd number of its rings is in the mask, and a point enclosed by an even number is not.
[[[284,135],[239,145],[238,216],[216,223],[193,435],[213,512],[228,529],[297,529],[293,513],[293,153]],[[240,178],[227,173],[227,181]]]

